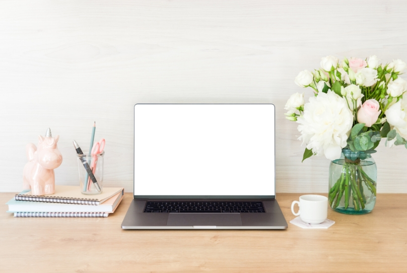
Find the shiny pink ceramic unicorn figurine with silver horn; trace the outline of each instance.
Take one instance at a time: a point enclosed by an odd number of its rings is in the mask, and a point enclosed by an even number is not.
[[[48,128],[45,137],[38,136],[38,148],[28,143],[26,152],[28,163],[23,171],[23,189],[31,189],[31,195],[50,195],[55,192],[54,169],[62,163],[62,154],[58,150],[57,142]]]

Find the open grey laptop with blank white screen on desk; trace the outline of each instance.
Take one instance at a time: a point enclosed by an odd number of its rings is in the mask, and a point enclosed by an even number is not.
[[[272,104],[136,104],[123,229],[285,229]]]

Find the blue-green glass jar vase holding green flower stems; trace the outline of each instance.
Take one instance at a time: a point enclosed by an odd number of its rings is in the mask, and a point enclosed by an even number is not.
[[[337,212],[365,214],[376,204],[376,163],[369,153],[342,149],[329,166],[329,204]]]

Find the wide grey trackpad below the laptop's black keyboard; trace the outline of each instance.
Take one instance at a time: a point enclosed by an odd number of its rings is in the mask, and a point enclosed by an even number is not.
[[[241,226],[240,213],[169,213],[167,226]]]

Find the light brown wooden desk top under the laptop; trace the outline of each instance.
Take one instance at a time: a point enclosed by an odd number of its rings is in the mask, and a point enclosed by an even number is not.
[[[278,194],[289,222],[300,194]],[[0,193],[0,203],[13,197]],[[0,272],[407,272],[407,195],[327,230],[122,230],[132,197],[107,218],[14,218],[2,205]]]

